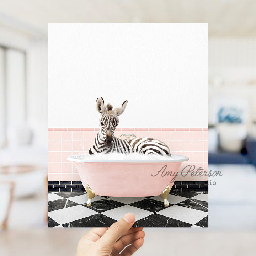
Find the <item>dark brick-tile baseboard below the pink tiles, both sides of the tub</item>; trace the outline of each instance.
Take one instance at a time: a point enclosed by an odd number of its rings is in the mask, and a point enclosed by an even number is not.
[[[49,192],[63,192],[63,191],[84,191],[85,188],[81,181],[48,181]],[[202,192],[208,191],[208,181],[175,181],[171,191],[191,191]]]

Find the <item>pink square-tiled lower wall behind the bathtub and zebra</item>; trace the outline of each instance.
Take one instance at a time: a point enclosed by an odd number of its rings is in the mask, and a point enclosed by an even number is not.
[[[97,132],[98,128],[48,128],[49,181],[80,181],[75,164],[66,158],[88,153]],[[115,136],[122,134],[160,139],[169,146],[171,154],[187,156],[190,160],[181,164],[176,181],[208,180],[204,176],[182,177],[180,173],[189,164],[208,171],[208,128],[117,128]]]

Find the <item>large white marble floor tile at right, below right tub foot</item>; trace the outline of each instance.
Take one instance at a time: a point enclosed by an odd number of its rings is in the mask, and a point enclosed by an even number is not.
[[[208,215],[208,212],[174,205],[169,206],[164,210],[160,210],[158,214],[194,225],[199,222],[199,220],[206,217]]]

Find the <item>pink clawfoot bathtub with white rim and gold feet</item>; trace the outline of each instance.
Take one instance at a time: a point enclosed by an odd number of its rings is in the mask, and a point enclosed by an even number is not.
[[[68,157],[75,162],[82,184],[91,198],[159,196],[168,206],[167,195],[172,187],[181,162],[186,156],[172,155],[170,160],[81,160]],[[168,192],[168,193],[167,193]],[[91,197],[91,198],[90,198]]]

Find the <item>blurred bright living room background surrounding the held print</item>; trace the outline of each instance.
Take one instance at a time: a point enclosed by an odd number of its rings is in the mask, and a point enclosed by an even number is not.
[[[223,174],[209,178],[216,182],[209,183],[210,228],[146,229],[145,244],[137,255],[163,255],[161,246],[150,248],[156,233],[166,239],[162,241],[171,238],[176,245],[186,242],[191,247],[199,238],[200,250],[212,247],[209,255],[219,252],[216,244],[223,255],[241,255],[241,251],[252,255],[256,229],[255,10],[254,0],[1,1],[0,254],[71,255],[87,231],[46,228],[47,23],[208,22],[209,170]],[[239,240],[243,244],[231,246]],[[177,246],[173,252],[182,254],[182,248],[187,246]]]

